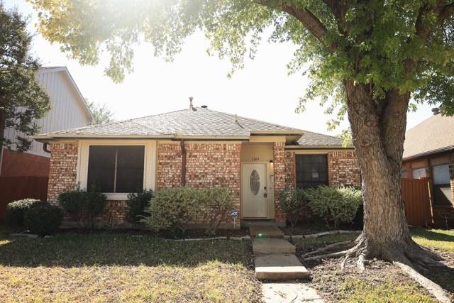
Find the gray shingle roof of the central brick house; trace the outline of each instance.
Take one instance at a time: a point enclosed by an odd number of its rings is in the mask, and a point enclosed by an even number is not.
[[[194,107],[166,114],[84,126],[46,135],[58,136],[218,136],[248,137],[250,133],[304,133],[297,128]]]

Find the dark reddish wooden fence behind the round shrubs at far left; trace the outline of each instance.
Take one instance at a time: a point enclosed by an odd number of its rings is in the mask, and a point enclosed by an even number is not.
[[[0,221],[9,202],[25,198],[45,201],[47,196],[48,177],[0,177]]]

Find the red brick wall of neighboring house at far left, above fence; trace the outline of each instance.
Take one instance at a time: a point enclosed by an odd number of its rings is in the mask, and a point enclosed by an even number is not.
[[[50,158],[31,153],[3,151],[1,177],[48,177]]]

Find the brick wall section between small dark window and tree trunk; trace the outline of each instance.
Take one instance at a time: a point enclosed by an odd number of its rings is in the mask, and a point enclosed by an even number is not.
[[[355,152],[339,150],[328,153],[328,180],[330,186],[361,185],[361,173]]]

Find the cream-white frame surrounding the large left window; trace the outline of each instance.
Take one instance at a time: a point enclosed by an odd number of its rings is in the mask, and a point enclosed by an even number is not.
[[[77,182],[81,189],[87,189],[88,160],[91,145],[144,146],[143,189],[155,190],[156,180],[156,141],[151,140],[81,140],[77,157]],[[108,200],[127,200],[128,193],[104,192]]]

